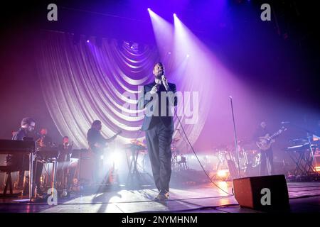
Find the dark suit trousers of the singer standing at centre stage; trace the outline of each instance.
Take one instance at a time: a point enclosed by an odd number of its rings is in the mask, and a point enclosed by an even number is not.
[[[169,192],[171,178],[171,141],[173,131],[161,120],[152,123],[146,131],[146,145],[151,162],[154,183],[159,192]]]

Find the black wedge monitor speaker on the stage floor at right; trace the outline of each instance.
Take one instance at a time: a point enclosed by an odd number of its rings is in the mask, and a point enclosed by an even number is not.
[[[284,175],[233,179],[233,190],[240,206],[260,211],[289,209]]]

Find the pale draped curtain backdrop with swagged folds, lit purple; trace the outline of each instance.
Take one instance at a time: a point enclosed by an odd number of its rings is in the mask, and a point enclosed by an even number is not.
[[[99,119],[106,138],[122,130],[119,143],[143,140],[140,128],[144,116],[132,106],[137,108],[139,85],[154,80],[152,69],[160,60],[157,48],[105,38],[97,45],[96,38],[87,42],[84,36],[78,43],[73,41],[70,33],[43,32],[38,51],[43,97],[60,134],[68,135],[75,147],[87,148],[87,130],[92,121]],[[183,79],[183,70],[174,67],[170,55],[162,61],[169,82],[176,83],[179,91],[203,90],[197,78]],[[203,92],[208,94],[206,89]],[[181,117],[191,143],[196,142],[206,121],[210,105],[204,103],[208,99],[201,99],[200,92],[202,107],[196,124],[184,124]],[[180,128],[177,120],[175,125]],[[176,131],[174,136],[181,136],[180,133]],[[186,145],[185,142],[180,140],[178,145]]]

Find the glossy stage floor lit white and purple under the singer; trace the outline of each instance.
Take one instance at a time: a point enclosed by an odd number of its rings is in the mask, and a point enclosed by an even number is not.
[[[216,182],[227,192],[232,182]],[[320,182],[288,182],[291,212],[320,211]],[[255,213],[241,208],[234,196],[228,196],[211,183],[171,188],[171,196],[165,203],[152,201],[155,189],[109,189],[102,193],[71,194],[69,199],[59,199],[58,205],[49,206],[46,201],[23,203],[17,198],[0,199],[0,212],[208,212],[208,213]]]

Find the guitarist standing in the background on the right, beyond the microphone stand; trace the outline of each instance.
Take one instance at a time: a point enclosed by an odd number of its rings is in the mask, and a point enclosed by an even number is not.
[[[255,131],[254,140],[259,141],[262,138],[267,138],[270,135],[270,131],[267,129],[267,123],[262,121],[260,126]],[[267,150],[260,149],[260,176],[265,175],[274,175],[273,151],[271,145]]]

